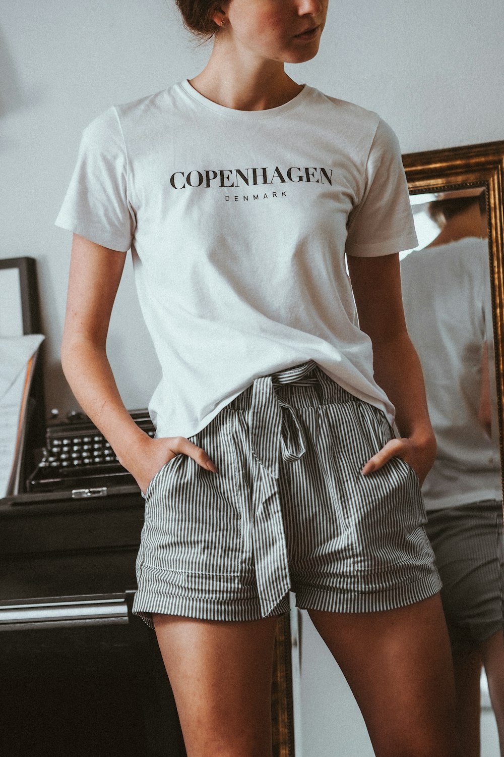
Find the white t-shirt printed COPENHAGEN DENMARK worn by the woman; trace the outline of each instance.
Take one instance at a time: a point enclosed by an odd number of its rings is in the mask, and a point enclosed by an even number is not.
[[[131,247],[162,367],[157,435],[196,434],[255,378],[306,360],[393,420],[345,267],[345,251],[417,243],[397,139],[375,113],[309,86],[237,111],[182,82],[85,129],[56,223]]]

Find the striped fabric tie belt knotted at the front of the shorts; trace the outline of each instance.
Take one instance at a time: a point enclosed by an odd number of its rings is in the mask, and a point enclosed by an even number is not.
[[[317,385],[310,376],[317,363],[310,360],[273,375],[256,378],[250,407],[250,444],[259,463],[259,478],[252,493],[252,528],[255,571],[261,614],[268,615],[291,586],[286,535],[280,506],[280,456],[292,463],[305,454],[305,432],[295,410],[277,397],[280,385]]]

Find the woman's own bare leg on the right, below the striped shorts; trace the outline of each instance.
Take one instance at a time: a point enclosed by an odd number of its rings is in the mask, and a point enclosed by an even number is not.
[[[376,757],[459,757],[438,595],[386,612],[310,616],[357,699]]]

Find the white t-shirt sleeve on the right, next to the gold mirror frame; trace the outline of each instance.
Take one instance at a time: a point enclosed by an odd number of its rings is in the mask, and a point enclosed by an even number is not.
[[[380,120],[369,150],[363,197],[348,217],[345,251],[377,257],[418,245],[397,137]]]

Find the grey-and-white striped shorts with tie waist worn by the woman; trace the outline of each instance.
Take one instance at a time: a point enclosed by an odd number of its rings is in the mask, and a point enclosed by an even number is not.
[[[147,488],[133,612],[246,621],[372,612],[441,589],[415,472],[360,472],[394,433],[313,361],[256,378]]]

